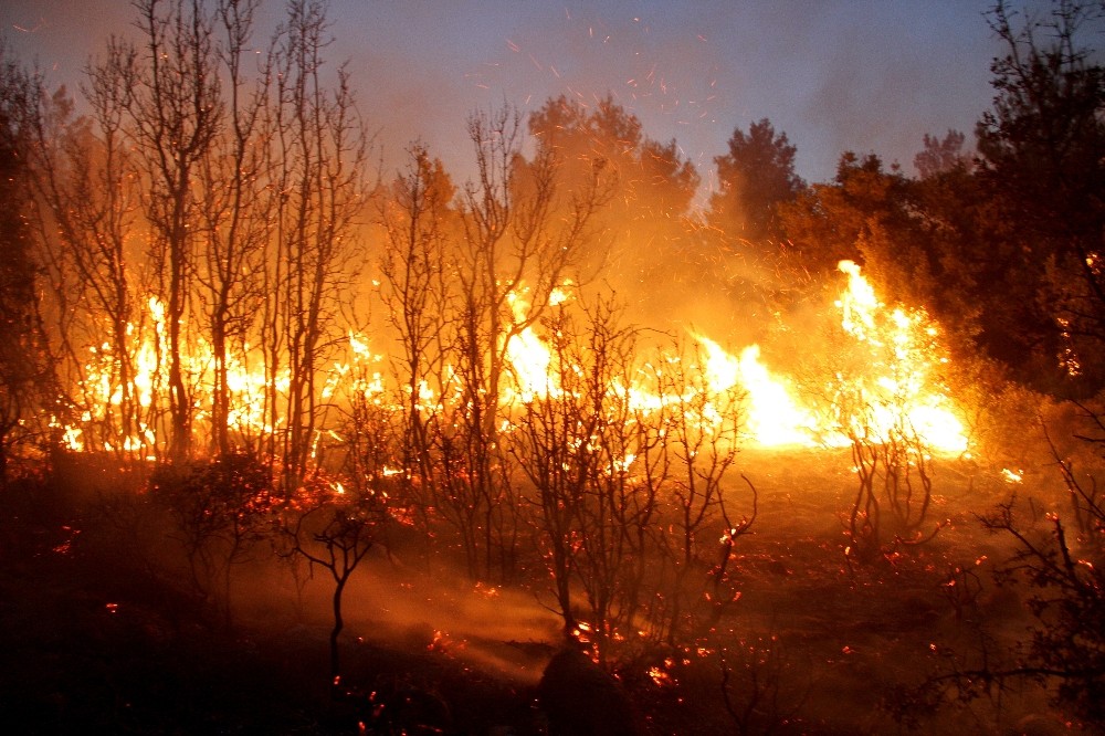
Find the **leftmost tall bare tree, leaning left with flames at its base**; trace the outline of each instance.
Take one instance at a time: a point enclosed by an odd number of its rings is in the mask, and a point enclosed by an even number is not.
[[[64,91],[41,97],[29,150],[48,318],[61,357],[59,376],[74,407],[61,421],[87,417],[82,444],[145,458],[157,451],[161,412],[156,392],[143,397],[137,386],[147,284],[126,127],[130,86],[113,63],[126,54],[112,41],[108,61],[88,69],[82,86],[87,116],[73,119]]]

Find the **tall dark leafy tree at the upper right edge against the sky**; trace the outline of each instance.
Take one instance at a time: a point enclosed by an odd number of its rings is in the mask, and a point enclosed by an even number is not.
[[[1038,293],[1032,353],[1051,364],[1056,393],[1105,386],[1105,67],[1082,45],[1105,17],[1099,3],[1062,0],[1020,15],[1006,2],[990,24],[993,107],[977,127],[981,176],[1014,257],[1000,281]]]

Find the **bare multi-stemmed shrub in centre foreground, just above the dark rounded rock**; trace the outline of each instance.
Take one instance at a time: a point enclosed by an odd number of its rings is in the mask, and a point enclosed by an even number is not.
[[[576,312],[560,305],[547,317],[548,386],[526,402],[509,443],[534,490],[538,548],[565,633],[604,661],[640,612],[649,577],[657,485],[651,469],[636,467],[660,433],[628,390],[636,330],[620,323],[612,297]]]

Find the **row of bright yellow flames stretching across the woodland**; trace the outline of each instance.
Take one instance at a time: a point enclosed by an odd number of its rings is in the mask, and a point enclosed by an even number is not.
[[[782,378],[764,365],[758,345],[749,345],[736,356],[725,351],[709,337],[695,335],[703,353],[694,370],[702,372],[703,387],[713,396],[735,387],[743,392],[746,417],[741,434],[759,446],[841,446],[848,444],[848,432],[852,430],[878,438],[892,427],[907,425],[933,451],[966,451],[968,445],[962,424],[956,418],[953,400],[938,379],[938,370],[947,358],[938,343],[936,326],[920,309],[888,308],[853,262],[841,262],[840,270],[848,275],[848,286],[834,306],[840,313],[844,334],[851,338],[849,348],[859,347],[863,359],[851,362],[853,370],[838,374],[832,382],[838,383],[835,390],[840,393],[862,397],[864,406],[871,409],[862,421],[870,421],[870,425],[849,427],[848,422],[861,419],[848,418],[845,409],[832,401],[828,406],[803,401],[802,392],[792,380]],[[525,324],[530,305],[516,293],[512,292],[508,297],[514,324]],[[565,292],[558,290],[552,293],[550,305],[559,306],[568,301]],[[134,356],[137,368],[128,386],[118,380],[118,361],[110,344],[88,348],[95,360],[85,364],[86,378],[81,387],[87,409],[78,423],[62,428],[71,450],[123,451],[154,459],[151,453],[164,443],[164,438],[158,437],[157,417],[159,411],[164,412],[165,403],[159,392],[168,385],[164,360],[167,350],[165,315],[157,297],[150,296],[147,306],[146,318],[138,326],[127,325],[127,335],[133,341],[123,350]],[[555,365],[552,348],[532,325],[504,339],[515,382],[515,388],[504,393],[503,401],[507,406],[526,403],[536,398],[556,398],[561,390],[559,371],[580,370],[579,366]],[[385,357],[373,355],[366,338],[354,332],[348,336],[347,353],[347,361],[334,362],[326,372],[323,398],[330,400],[359,395],[371,397],[377,404],[383,402],[388,395],[385,378],[378,368],[370,366],[378,366]],[[288,375],[285,371],[275,377],[266,376],[263,359],[261,351],[246,346],[242,357],[230,356],[225,365],[230,390],[228,419],[243,435],[272,434],[285,421],[284,417],[274,418],[265,411],[264,396],[266,387],[275,386],[277,391],[286,391]],[[672,359],[671,356],[662,357],[661,361]],[[211,346],[203,339],[197,339],[185,360],[197,407],[206,406],[214,390],[213,362]],[[251,362],[256,367],[251,368]],[[855,367],[860,367],[862,372],[855,372]],[[639,371],[639,375],[645,374]],[[613,385],[610,390],[617,393],[627,389],[618,389]],[[685,387],[685,391],[694,390],[693,387]],[[118,409],[125,393],[136,399],[148,419],[130,434],[113,437],[113,412]],[[632,396],[634,406],[646,413],[675,400],[673,396],[657,392],[646,378],[631,385],[628,393]],[[428,387],[422,388],[423,401],[430,401],[432,396]],[[683,400],[687,398],[685,395],[682,397]],[[706,399],[708,404],[711,397]],[[399,410],[400,407],[393,402],[389,404],[389,411]],[[197,416],[201,424],[204,417],[202,412]],[[327,428],[318,428],[318,431],[327,431]],[[97,437],[103,438],[99,448],[90,444],[94,443],[92,438]]]

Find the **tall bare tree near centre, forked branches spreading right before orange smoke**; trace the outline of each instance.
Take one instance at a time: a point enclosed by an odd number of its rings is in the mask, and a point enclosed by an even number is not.
[[[457,285],[449,344],[455,377],[448,382],[459,397],[440,425],[438,505],[461,533],[469,574],[477,577],[504,575],[514,564],[517,500],[498,437],[512,341],[537,323],[569,276],[604,194],[598,168],[586,187],[562,193],[549,146],[538,145],[525,160],[516,111],[474,114],[469,137],[477,175],[464,187],[451,273]],[[529,308],[519,314],[515,301],[523,296]]]

